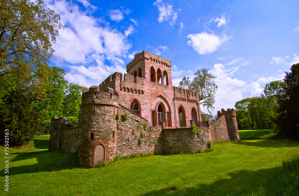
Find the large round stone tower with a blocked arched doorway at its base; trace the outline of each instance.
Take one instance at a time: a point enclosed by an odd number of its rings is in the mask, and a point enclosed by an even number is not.
[[[99,86],[83,90],[80,116],[83,138],[78,152],[81,167],[93,167],[114,159],[118,100],[117,93],[109,87],[106,92],[99,91]]]

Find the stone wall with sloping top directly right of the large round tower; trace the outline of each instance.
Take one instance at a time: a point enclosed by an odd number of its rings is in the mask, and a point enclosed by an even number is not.
[[[127,120],[118,120],[117,145],[115,156],[124,157],[131,154],[163,153],[161,137],[162,126],[149,126],[146,119],[121,106],[118,108],[120,115],[127,114]],[[140,141],[138,143],[138,140]]]

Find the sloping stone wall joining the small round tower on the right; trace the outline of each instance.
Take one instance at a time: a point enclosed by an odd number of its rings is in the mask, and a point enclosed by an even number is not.
[[[221,116],[216,122],[210,124],[210,127],[213,142],[221,142],[229,139],[225,116]]]

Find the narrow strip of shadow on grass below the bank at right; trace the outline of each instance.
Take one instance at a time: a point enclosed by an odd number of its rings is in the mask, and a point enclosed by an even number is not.
[[[277,143],[277,141],[279,141],[279,143]],[[298,140],[284,140],[284,139],[267,140],[267,142],[263,142],[263,140],[257,142],[242,140],[242,142],[235,142],[234,144],[256,146],[256,147],[263,147],[263,148],[299,147]]]

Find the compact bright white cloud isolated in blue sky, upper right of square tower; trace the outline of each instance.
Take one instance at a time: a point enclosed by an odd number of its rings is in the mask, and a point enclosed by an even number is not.
[[[228,39],[226,35],[218,37],[215,34],[208,34],[206,32],[189,34],[187,38],[191,39],[187,42],[188,45],[192,46],[198,54],[209,54],[216,51]]]

